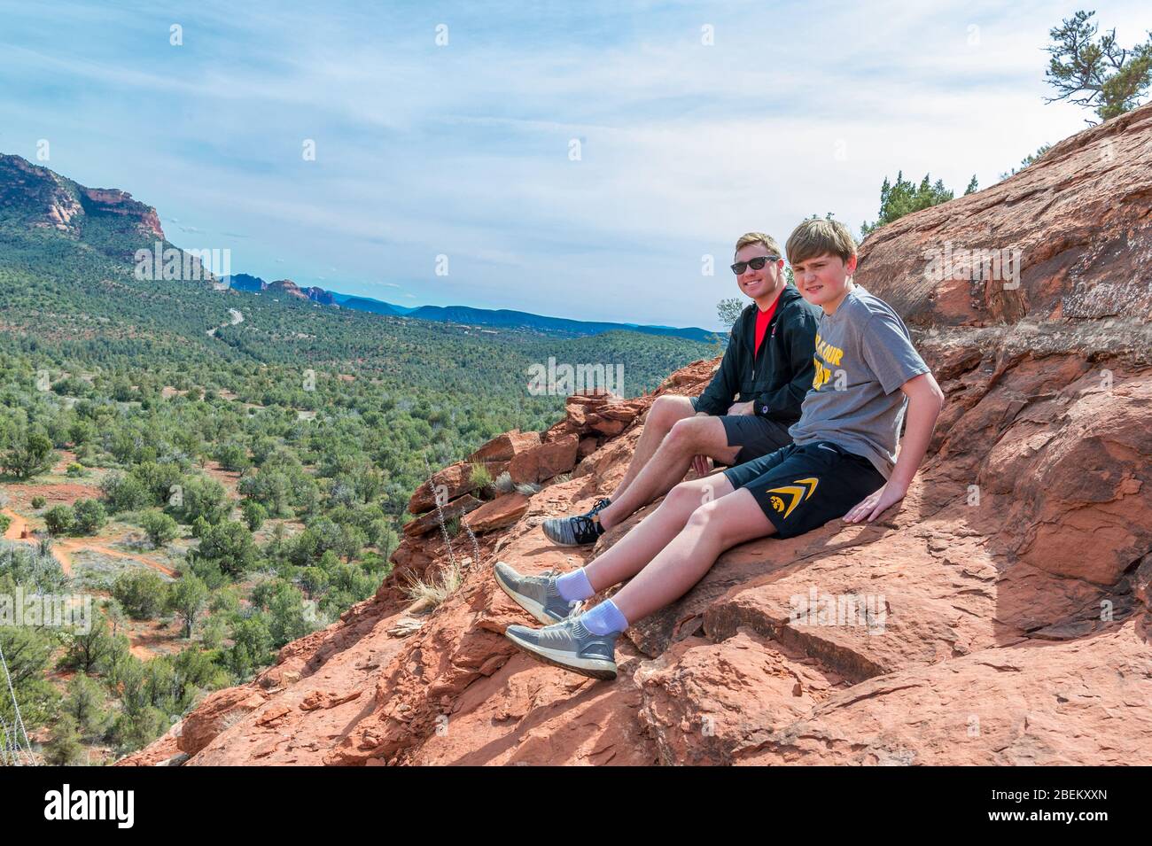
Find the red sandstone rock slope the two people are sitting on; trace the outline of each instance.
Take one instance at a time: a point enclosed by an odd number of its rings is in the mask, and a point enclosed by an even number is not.
[[[1150,259],[1145,106],[864,245],[857,281],[907,315],[948,397],[882,519],[728,551],[621,639],[615,683],[537,664],[502,638],[529,620],[492,563],[569,570],[627,531],[558,549],[539,523],[613,489],[652,401],[574,397],[416,493],[433,517],[374,599],[120,763],[1152,763]],[[543,489],[483,502],[472,463]],[[442,604],[408,609],[404,578],[449,559],[438,493],[477,541],[452,541],[464,578]]]

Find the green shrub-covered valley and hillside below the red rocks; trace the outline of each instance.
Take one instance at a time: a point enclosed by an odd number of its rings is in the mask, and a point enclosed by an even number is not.
[[[0,626],[24,723],[50,730],[45,754],[60,762],[139,748],[207,691],[251,679],[285,643],[372,596],[429,465],[563,414],[563,396],[526,390],[531,365],[623,363],[624,392],[637,395],[714,352],[142,282],[130,257],[150,242],[114,215],[83,219],[77,237],[0,204],[3,481],[84,486],[36,519],[52,535],[100,532],[121,555],[107,558],[116,570],[101,577],[91,631]],[[229,308],[243,322],[226,325]],[[46,475],[61,460],[67,470]],[[498,486],[479,472],[473,483]],[[177,578],[122,561],[137,556]],[[99,581],[79,581],[82,559],[73,567],[69,579],[46,544],[5,544],[0,593]],[[145,626],[179,651],[134,655]],[[85,681],[61,689],[47,678],[61,668]],[[5,698],[0,717],[12,723]]]

